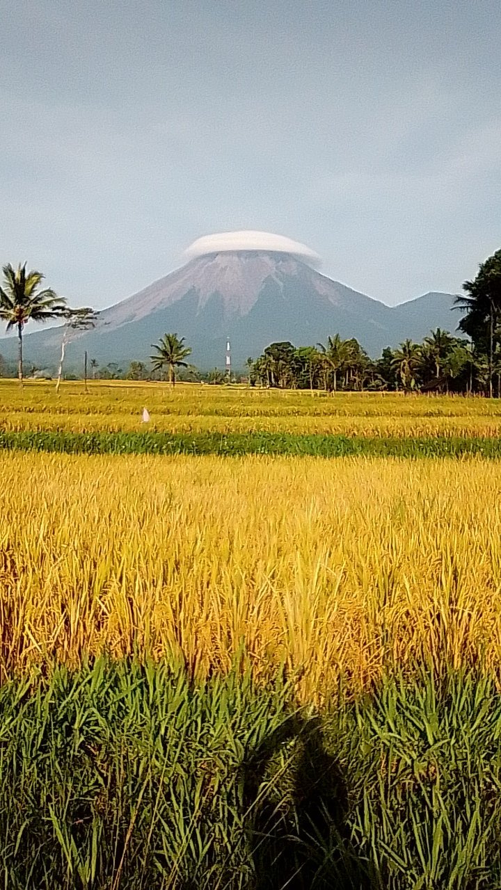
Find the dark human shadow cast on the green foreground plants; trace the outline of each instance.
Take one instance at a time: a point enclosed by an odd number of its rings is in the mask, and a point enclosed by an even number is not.
[[[374,886],[350,844],[347,784],[317,718],[288,718],[251,752],[242,781],[255,890]]]

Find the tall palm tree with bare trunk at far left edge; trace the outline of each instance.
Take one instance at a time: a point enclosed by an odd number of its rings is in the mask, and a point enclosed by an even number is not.
[[[26,271],[26,263],[13,269],[8,263],[3,267],[4,287],[0,287],[0,319],[7,322],[7,330],[17,328],[18,333],[18,376],[22,385],[22,332],[31,319],[49,321],[62,317],[66,299],[58,296],[52,288],[38,290],[44,279],[41,272]]]

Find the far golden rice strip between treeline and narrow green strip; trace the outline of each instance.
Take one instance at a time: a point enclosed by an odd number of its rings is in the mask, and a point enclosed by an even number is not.
[[[135,431],[170,433],[344,433],[370,436],[496,436],[501,402],[460,396],[400,393],[280,392],[180,384],[0,382],[0,430]]]

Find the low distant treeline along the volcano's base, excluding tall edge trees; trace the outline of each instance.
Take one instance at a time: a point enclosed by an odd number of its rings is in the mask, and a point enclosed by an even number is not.
[[[51,376],[32,365],[29,376]],[[0,376],[16,376],[15,366],[0,356]],[[66,379],[81,375],[67,373]],[[127,368],[116,362],[89,362],[94,380],[161,380],[166,370],[151,363],[131,361]],[[493,363],[493,394],[501,395],[501,355]],[[478,345],[437,328],[421,344],[406,340],[397,349],[387,347],[379,359],[371,359],[355,338],[329,336],[326,344],[294,346],[289,341],[273,343],[257,358],[231,377],[214,368],[201,372],[194,366],[180,368],[177,379],[208,384],[248,383],[278,389],[337,391],[421,391],[489,393],[489,356]]]

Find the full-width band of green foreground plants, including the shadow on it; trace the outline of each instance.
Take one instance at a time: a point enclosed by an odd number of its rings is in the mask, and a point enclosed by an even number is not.
[[[321,716],[282,681],[98,660],[0,690],[14,890],[495,890],[501,698],[424,669]]]

